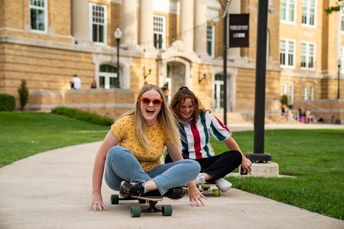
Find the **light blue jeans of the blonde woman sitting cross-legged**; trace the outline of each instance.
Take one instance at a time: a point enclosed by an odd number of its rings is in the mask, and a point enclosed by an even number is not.
[[[107,153],[105,162],[105,182],[113,190],[120,189],[120,182],[147,182],[153,180],[161,195],[170,188],[184,186],[195,179],[201,167],[195,160],[179,160],[169,164],[160,164],[145,172],[140,162],[129,149],[114,146]]]

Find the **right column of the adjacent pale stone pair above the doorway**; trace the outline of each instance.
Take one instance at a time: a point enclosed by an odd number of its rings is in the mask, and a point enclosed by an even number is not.
[[[206,53],[206,0],[195,1],[194,14],[194,50],[199,56],[208,56]]]

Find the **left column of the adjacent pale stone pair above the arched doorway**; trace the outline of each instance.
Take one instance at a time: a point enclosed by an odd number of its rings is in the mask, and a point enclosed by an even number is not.
[[[193,51],[193,0],[180,0],[180,40]]]

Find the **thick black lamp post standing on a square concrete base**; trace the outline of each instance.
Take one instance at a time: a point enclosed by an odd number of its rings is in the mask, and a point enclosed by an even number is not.
[[[247,156],[255,162],[267,162],[271,155],[264,153],[264,118],[265,118],[265,87],[266,87],[266,34],[268,32],[268,0],[258,2],[257,21],[257,52],[255,75],[255,136],[253,153]]]

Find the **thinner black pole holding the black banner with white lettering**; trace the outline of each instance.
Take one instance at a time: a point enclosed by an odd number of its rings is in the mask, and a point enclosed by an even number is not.
[[[228,27],[228,13],[225,12],[224,14],[224,71],[223,71],[224,72],[224,125],[225,126],[227,125],[227,49],[228,49],[227,27]]]

